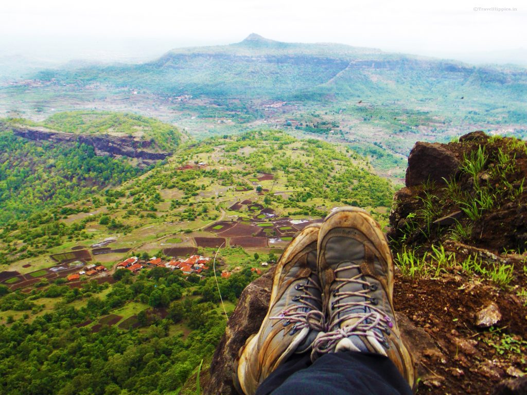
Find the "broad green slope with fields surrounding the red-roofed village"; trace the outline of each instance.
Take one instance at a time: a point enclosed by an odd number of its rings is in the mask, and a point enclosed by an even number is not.
[[[393,192],[344,146],[261,131],[1,227],[0,392],[177,392],[296,232],[342,204],[386,224]],[[191,254],[206,264],[174,269]]]

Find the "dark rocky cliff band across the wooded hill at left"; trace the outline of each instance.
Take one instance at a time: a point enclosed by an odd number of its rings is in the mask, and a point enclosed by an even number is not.
[[[91,145],[94,147],[96,155],[126,156],[138,159],[139,165],[144,167],[162,161],[169,156],[166,152],[146,151],[145,149],[152,146],[151,141],[138,141],[131,137],[73,134],[25,126],[13,127],[12,129],[15,135],[28,140],[47,141],[53,144],[80,143]]]

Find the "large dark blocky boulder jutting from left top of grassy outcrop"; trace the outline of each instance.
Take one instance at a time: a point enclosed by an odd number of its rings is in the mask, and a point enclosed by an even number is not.
[[[460,161],[440,143],[415,143],[408,157],[406,186],[425,182],[444,183],[459,169]]]

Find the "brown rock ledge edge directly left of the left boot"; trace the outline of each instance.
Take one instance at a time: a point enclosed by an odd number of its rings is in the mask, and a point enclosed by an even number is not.
[[[247,338],[258,332],[269,307],[274,268],[251,282],[240,295],[236,309],[227,322],[210,363],[210,380],[204,384],[203,393],[235,395],[232,384],[233,362]]]

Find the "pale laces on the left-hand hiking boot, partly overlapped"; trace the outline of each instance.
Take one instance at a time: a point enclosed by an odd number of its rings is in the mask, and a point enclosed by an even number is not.
[[[284,320],[284,327],[294,323],[289,334],[292,336],[304,328],[311,328],[321,332],[326,330],[324,313],[319,310],[318,306],[322,305],[322,288],[316,276],[309,276],[305,284],[296,284],[297,291],[304,291],[292,298],[293,301],[299,302],[282,310],[275,317],[269,317],[271,320]],[[316,303],[316,304],[315,304]]]

